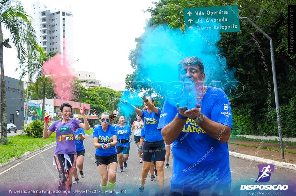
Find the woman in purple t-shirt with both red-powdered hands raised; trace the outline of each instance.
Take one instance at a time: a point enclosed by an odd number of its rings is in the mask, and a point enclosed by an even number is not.
[[[61,105],[62,120],[57,120],[52,123],[47,129],[48,122],[51,120],[50,115],[44,117],[43,138],[46,139],[53,132],[56,131],[57,146],[54,152],[54,165],[57,166],[59,171],[59,189],[60,191],[71,190],[72,175],[74,166],[77,159],[76,146],[75,146],[75,131],[77,128],[89,130],[89,123],[87,122],[84,114],[85,104],[80,107],[80,113],[83,116],[85,124],[78,119],[70,119],[72,106],[69,103]]]

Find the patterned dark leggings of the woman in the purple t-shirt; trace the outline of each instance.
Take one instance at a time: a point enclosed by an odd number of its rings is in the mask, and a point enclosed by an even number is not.
[[[57,169],[59,171],[59,189],[60,191],[71,190],[72,187],[72,176],[74,166],[77,160],[77,154],[68,154],[70,157],[70,161],[72,166],[70,165],[69,161],[67,161],[68,170],[65,171],[65,158],[63,154],[56,154],[54,155],[54,161],[56,163]]]

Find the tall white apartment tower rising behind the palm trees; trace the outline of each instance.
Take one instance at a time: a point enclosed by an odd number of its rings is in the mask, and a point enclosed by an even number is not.
[[[62,52],[63,59],[71,63],[74,55],[73,13],[63,9],[50,11],[47,8],[40,2],[31,4],[31,15],[35,21],[33,27],[39,45],[47,53],[53,50]]]

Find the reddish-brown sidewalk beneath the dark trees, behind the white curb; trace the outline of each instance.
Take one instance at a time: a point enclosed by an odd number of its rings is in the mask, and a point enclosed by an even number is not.
[[[228,142],[237,143],[237,144],[228,143],[228,148],[229,148],[230,152],[246,154],[246,155],[260,157],[260,158],[264,158],[264,159],[270,159],[273,161],[280,161],[280,162],[296,164],[296,154],[294,154],[294,153],[284,152],[285,159],[281,159],[281,152],[262,149],[262,147],[280,149],[279,144],[262,143],[261,147],[259,147],[260,142],[255,142],[255,141],[229,139]],[[251,145],[251,146],[256,146],[256,147],[242,146],[239,144]],[[296,152],[296,146],[284,145],[284,150]],[[258,154],[256,152],[258,152]]]

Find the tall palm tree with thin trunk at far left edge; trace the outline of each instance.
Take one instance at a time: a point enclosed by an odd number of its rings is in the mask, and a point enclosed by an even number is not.
[[[1,144],[7,143],[7,108],[6,86],[4,79],[3,45],[11,48],[9,39],[3,41],[2,27],[10,31],[12,43],[17,49],[17,58],[21,59],[28,51],[33,51],[36,43],[35,30],[32,27],[33,18],[25,11],[22,4],[17,0],[0,0],[0,67],[1,67]],[[3,26],[2,26],[3,25]]]

